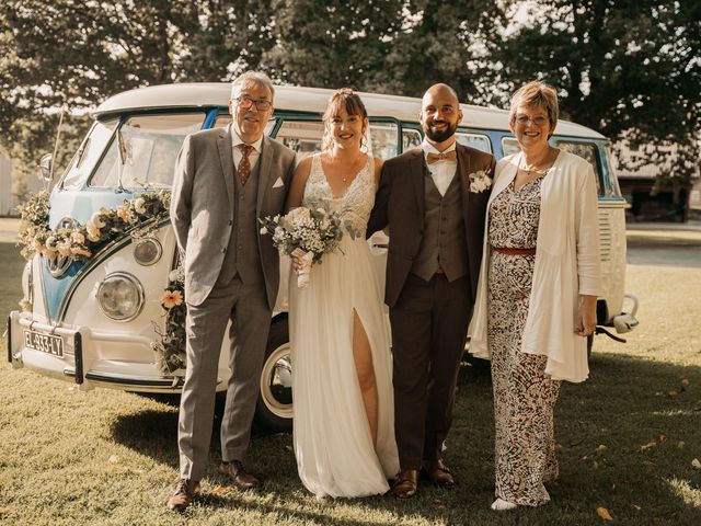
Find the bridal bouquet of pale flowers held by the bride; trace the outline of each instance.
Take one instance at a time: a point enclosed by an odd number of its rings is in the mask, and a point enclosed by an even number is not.
[[[284,216],[258,219],[261,233],[273,236],[273,244],[280,254],[301,260],[297,271],[297,286],[309,286],[309,274],[313,263],[321,262],[327,252],[340,250],[344,231],[355,239],[357,232],[349,221],[343,219],[342,211],[331,211],[323,205],[300,206]]]

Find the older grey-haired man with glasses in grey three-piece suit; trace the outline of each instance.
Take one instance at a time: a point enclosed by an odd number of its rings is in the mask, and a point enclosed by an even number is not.
[[[175,169],[171,220],[184,254],[187,370],[180,409],[181,478],[168,507],[184,511],[199,492],[214,422],[217,365],[231,320],[231,379],[221,422],[219,471],[240,489],[260,481],[241,462],[251,437],[279,260],[257,219],[285,205],[295,153],[263,136],[274,87],[248,72],[231,84],[226,128],[185,138]]]

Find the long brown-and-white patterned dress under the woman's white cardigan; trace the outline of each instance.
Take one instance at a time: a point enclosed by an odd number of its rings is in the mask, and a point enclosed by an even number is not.
[[[490,207],[492,247],[535,249],[543,178],[518,191],[514,184]],[[487,342],[496,425],[497,498],[518,505],[550,501],[543,482],[558,477],[553,409],[560,381],[545,375],[545,356],[521,352],[533,277],[535,255],[492,250],[489,270]]]

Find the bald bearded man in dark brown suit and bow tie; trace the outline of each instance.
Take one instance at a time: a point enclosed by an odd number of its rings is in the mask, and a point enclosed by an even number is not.
[[[420,470],[455,480],[440,451],[452,421],[458,369],[476,293],[494,157],[457,144],[458,96],[435,84],[422,100],[422,147],[382,168],[368,233],[389,226],[384,300],[392,325],[394,494],[416,493]],[[483,173],[479,173],[483,172]]]

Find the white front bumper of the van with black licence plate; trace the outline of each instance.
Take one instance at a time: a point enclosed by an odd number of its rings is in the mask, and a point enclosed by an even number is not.
[[[110,387],[139,392],[180,392],[182,378],[160,374],[154,362],[107,359],[96,350],[146,346],[143,336],[105,333],[88,327],[54,327],[32,319],[30,312],[8,317],[8,361],[12,367],[76,382],[81,389]],[[153,356],[153,352],[146,356]]]

